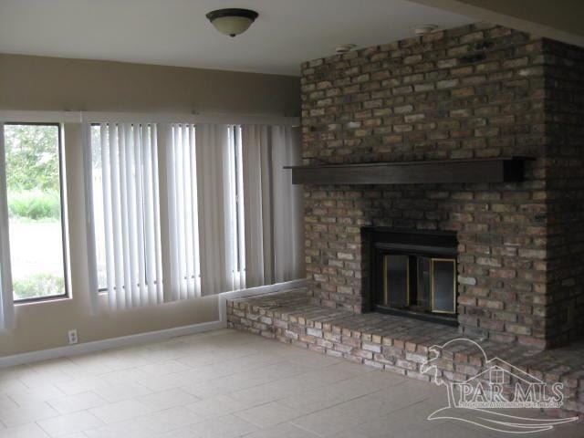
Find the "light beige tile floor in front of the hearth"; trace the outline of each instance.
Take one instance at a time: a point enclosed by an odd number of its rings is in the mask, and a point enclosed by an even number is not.
[[[235,330],[0,370],[0,438],[512,436],[429,422],[443,388]],[[584,424],[526,436],[584,437]]]

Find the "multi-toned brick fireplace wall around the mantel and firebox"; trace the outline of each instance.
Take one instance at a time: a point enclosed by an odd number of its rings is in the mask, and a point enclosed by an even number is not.
[[[582,332],[584,50],[476,24],[302,66],[306,165],[522,156],[522,182],[308,184],[320,305],[370,308],[367,226],[453,232],[465,334],[547,348]]]

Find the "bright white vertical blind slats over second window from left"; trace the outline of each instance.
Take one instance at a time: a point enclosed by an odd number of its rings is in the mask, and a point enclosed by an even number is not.
[[[105,289],[110,308],[160,303],[162,257],[156,125],[101,124],[99,157],[92,156],[91,142],[86,143],[89,285],[97,294],[99,281],[91,255],[96,254],[95,224],[103,224]],[[99,180],[100,186],[95,187],[93,184]],[[99,215],[102,220],[98,221]],[[97,303],[97,297],[93,301]]]

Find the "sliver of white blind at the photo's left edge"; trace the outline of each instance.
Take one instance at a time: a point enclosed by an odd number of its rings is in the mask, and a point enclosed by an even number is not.
[[[8,330],[14,325],[15,307],[8,235],[4,123],[0,123],[0,330]]]

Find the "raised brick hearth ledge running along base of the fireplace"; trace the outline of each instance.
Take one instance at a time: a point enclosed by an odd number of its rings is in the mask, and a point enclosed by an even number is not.
[[[428,348],[458,337],[456,328],[430,322],[318,306],[305,288],[228,300],[227,320],[230,328],[423,381],[431,381],[420,372]],[[564,383],[564,409],[547,413],[572,416],[584,412],[583,342],[554,349],[553,354],[493,341],[481,341],[481,346],[489,358],[507,360],[547,383]],[[443,352],[439,371],[447,381],[464,381],[481,372],[484,365],[475,349],[459,348]]]

